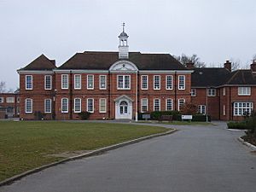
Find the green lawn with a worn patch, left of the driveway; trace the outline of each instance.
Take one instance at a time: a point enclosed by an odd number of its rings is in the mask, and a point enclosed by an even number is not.
[[[0,121],[0,181],[62,159],[49,154],[92,150],[165,131],[146,125]]]

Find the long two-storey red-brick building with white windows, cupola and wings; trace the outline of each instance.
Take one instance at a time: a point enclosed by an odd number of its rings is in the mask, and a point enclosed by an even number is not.
[[[118,52],[84,51],[60,67],[40,55],[20,74],[21,119],[137,119],[137,113],[180,110],[193,103],[212,119],[241,119],[256,103],[256,63],[249,70],[184,67],[169,54],[129,52],[119,35]],[[1,101],[1,99],[0,99]],[[0,102],[1,106],[1,102]]]

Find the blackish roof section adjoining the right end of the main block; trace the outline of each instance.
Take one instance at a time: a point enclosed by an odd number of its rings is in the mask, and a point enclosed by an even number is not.
[[[226,68],[194,68],[191,77],[192,87],[209,87],[224,84],[230,77]]]

